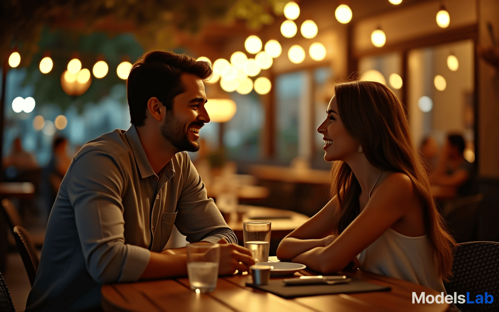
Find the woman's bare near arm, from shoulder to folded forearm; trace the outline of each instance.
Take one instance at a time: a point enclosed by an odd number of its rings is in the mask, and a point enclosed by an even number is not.
[[[362,250],[403,218],[408,206],[421,205],[412,181],[402,173],[388,176],[352,223],[326,247],[316,247],[293,258],[293,262],[324,274],[342,270]]]

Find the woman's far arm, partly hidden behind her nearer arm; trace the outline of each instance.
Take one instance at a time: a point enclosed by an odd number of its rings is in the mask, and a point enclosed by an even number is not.
[[[277,247],[277,258],[291,260],[299,254],[316,247],[324,247],[334,237],[334,212],[338,206],[336,196],[333,197],[315,216],[289,233]]]

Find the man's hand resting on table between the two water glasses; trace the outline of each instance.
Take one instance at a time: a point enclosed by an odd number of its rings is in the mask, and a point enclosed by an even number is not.
[[[225,239],[221,239],[218,243],[220,244],[219,275],[234,274],[236,270],[245,272],[254,265],[250,250],[236,244],[228,244]]]

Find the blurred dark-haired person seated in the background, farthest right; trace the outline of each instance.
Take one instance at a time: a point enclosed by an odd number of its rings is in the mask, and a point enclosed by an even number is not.
[[[462,135],[448,135],[432,176],[433,185],[451,188],[456,196],[466,196],[473,191],[474,169],[464,157],[465,146]]]

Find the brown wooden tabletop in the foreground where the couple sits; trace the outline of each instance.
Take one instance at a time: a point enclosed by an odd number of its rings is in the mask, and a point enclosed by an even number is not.
[[[108,312],[332,312],[332,311],[390,311],[444,312],[448,304],[412,304],[412,292],[419,296],[438,295],[420,285],[373,273],[354,270],[342,272],[349,277],[390,286],[389,292],[321,295],[283,299],[246,287],[249,275],[219,278],[217,289],[208,294],[196,294],[189,288],[187,278],[155,280],[102,286],[102,307]],[[315,275],[302,270],[299,275]]]

